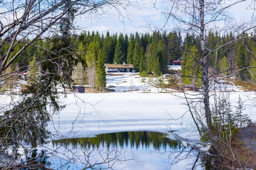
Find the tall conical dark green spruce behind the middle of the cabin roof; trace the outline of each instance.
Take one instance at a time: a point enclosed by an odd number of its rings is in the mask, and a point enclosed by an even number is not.
[[[116,43],[114,62],[117,62],[117,64],[122,64],[125,61],[125,40],[123,34],[120,33]]]

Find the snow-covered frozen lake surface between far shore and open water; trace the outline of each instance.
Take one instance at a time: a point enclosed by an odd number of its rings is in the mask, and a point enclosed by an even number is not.
[[[245,101],[244,113],[256,120],[254,93],[232,92],[230,100],[236,104],[238,96]],[[176,95],[176,96],[175,96]],[[67,107],[54,117],[49,130],[63,138],[94,136],[94,134],[121,131],[177,131],[181,136],[198,139],[181,93],[105,93],[68,94],[63,103]],[[186,113],[183,119],[177,119]],[[189,136],[190,135],[190,136]]]

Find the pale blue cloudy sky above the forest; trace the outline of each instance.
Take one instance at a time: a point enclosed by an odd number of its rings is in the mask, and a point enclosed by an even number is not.
[[[228,3],[236,2],[229,0]],[[108,14],[95,17],[81,16],[76,18],[76,24],[86,31],[99,31],[105,34],[109,31],[113,33],[130,34],[134,32],[145,33],[152,30],[160,29],[165,23],[165,17],[162,11],[166,9],[163,0],[138,0],[132,1],[134,6],[130,6],[125,10],[120,9],[122,16],[114,8],[107,9]],[[242,3],[232,6],[229,12],[239,23],[239,20],[250,20],[253,10],[247,9],[252,0],[245,0]],[[253,5],[253,4],[251,4]],[[177,28],[176,28],[177,29]],[[172,25],[166,26],[164,30],[173,30]]]

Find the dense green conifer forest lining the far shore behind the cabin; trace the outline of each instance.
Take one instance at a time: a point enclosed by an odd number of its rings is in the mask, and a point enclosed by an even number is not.
[[[248,36],[246,33],[242,36]],[[234,74],[240,68],[247,68],[256,65],[256,42],[253,40],[244,40],[242,42],[230,43],[237,37],[230,32],[220,35],[217,31],[209,31],[206,40],[206,48],[216,51],[209,51],[208,63],[213,74],[222,74],[229,76]],[[23,53],[15,59],[15,64],[6,69],[6,73],[13,71],[22,72],[33,67],[31,73],[44,74],[40,62],[60,55],[76,56],[77,66],[73,71],[73,79],[77,84],[87,83],[92,90],[101,90],[106,85],[105,68],[106,63],[122,64],[126,62],[132,64],[135,71],[145,71],[147,74],[160,75],[168,72],[168,64],[172,60],[183,59],[182,75],[185,84],[201,84],[201,54],[198,51],[199,39],[194,35],[186,34],[182,36],[180,31],[154,31],[152,34],[110,34],[105,35],[97,32],[85,31],[80,35],[69,37],[67,42],[58,40],[58,37],[49,39],[39,39],[29,45]],[[12,55],[15,55],[23,46],[29,42],[19,40],[15,45]],[[224,46],[222,46],[224,45]],[[3,55],[8,50],[6,44],[1,48]],[[65,54],[61,54],[61,48],[65,48]],[[213,57],[212,57],[213,56]],[[256,81],[253,73],[256,68],[243,69],[236,74],[239,80]],[[33,77],[33,74],[30,77]],[[34,75],[34,79],[36,76]]]

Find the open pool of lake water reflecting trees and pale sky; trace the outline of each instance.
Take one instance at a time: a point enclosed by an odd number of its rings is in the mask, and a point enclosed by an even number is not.
[[[169,139],[167,134],[147,131],[106,133],[91,138],[61,139],[52,141],[49,145],[53,147],[52,150],[58,148],[57,156],[64,158],[52,161],[55,167],[64,164],[65,168],[63,169],[70,170],[86,169],[88,164],[91,166],[99,162],[103,163],[96,165],[98,167],[92,167],[99,169],[111,167],[113,170],[183,170],[195,167],[197,157],[197,153],[194,154],[190,147],[184,147],[181,142]],[[60,148],[63,148],[62,151]],[[105,160],[113,161],[105,162]],[[198,163],[196,161],[197,165]],[[54,167],[52,168],[54,169]],[[198,168],[194,169],[198,170]]]

